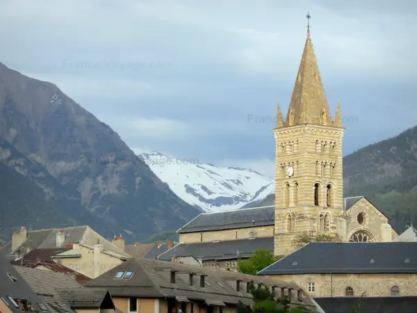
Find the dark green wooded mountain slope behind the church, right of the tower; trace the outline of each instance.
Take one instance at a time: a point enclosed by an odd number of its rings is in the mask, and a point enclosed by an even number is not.
[[[417,225],[417,127],[343,157],[343,179],[345,197],[364,195],[396,230]],[[270,195],[256,206],[274,200]]]

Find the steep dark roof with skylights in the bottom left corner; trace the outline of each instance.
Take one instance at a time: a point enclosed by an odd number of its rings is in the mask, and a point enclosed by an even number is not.
[[[3,255],[0,255],[0,312],[51,312]]]

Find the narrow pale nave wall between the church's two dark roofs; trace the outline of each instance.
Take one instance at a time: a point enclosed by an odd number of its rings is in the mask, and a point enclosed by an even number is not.
[[[255,237],[270,237],[274,235],[274,226],[247,227],[235,230],[216,230],[213,232],[190,232],[179,234],[179,243],[213,242]]]

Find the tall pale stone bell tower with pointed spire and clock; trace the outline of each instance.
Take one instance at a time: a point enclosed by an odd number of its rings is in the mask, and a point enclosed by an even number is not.
[[[313,51],[310,31],[286,119],[277,108],[275,255],[295,250],[304,232],[345,241],[341,104],[334,120]]]

